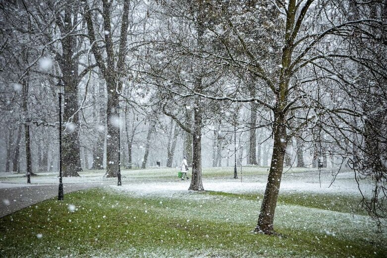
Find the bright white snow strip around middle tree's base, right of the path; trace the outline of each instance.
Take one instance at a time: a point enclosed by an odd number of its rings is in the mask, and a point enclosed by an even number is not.
[[[321,180],[321,187],[320,187]],[[353,173],[340,174],[331,185],[332,175],[318,172],[285,174],[282,177],[280,192],[285,193],[315,193],[315,194],[359,194],[357,184],[353,179]],[[257,193],[263,194],[266,188],[267,175],[246,176],[242,180],[233,178],[204,178],[203,187],[206,191],[217,191],[234,194]],[[124,182],[121,187],[113,187],[114,190],[127,192],[131,195],[152,196],[181,196],[187,194],[189,181],[178,179],[169,182],[160,181],[134,181]],[[369,187],[369,186],[367,186]]]

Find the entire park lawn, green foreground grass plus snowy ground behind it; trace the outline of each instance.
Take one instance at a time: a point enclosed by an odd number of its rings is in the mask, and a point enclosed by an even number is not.
[[[275,217],[282,237],[251,233],[267,172],[249,169],[247,175],[242,169],[242,180],[240,174],[232,179],[232,168],[205,169],[204,193],[187,191],[190,182],[178,180],[176,170],[124,170],[122,187],[115,186],[116,179],[103,178],[103,172],[83,172],[68,180],[105,186],[1,218],[0,256],[387,256],[387,234],[376,234],[372,219],[356,209],[360,197],[351,172],[340,173],[332,186],[330,171],[323,171],[320,180],[316,171],[287,172]],[[56,184],[50,173],[32,180],[47,184],[51,177]],[[20,179],[0,175],[1,182]]]

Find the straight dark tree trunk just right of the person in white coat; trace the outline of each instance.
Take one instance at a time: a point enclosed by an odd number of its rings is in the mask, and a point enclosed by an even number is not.
[[[192,179],[188,190],[204,191],[202,182],[202,110],[196,102],[194,110]]]

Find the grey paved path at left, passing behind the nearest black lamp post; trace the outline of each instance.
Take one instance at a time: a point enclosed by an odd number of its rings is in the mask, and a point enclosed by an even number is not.
[[[66,193],[101,187],[106,184],[65,184]],[[58,185],[19,185],[0,183],[0,217],[58,195]]]

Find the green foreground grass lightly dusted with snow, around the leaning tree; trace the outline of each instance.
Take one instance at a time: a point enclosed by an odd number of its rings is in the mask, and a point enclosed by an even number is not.
[[[315,197],[280,200],[276,230],[284,237],[279,238],[251,233],[257,195],[136,198],[104,189],[80,191],[0,218],[0,257],[387,256],[385,235],[373,234],[369,219],[311,208],[320,205],[311,201]],[[331,220],[323,223],[321,216]]]

